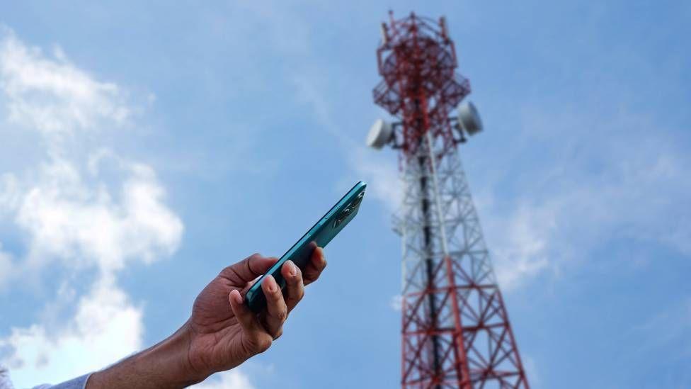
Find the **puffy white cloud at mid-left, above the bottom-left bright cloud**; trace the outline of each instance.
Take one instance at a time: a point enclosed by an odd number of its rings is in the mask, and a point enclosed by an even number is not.
[[[150,262],[177,249],[183,224],[162,203],[165,191],[154,171],[142,164],[118,165],[126,175],[119,193],[108,191],[98,176],[85,179],[65,159],[40,169],[16,215],[18,227],[30,237],[30,266],[57,258],[115,271],[128,259]]]

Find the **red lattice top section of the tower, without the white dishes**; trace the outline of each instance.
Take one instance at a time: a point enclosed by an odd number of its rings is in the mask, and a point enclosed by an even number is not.
[[[373,91],[375,103],[400,120],[387,142],[410,157],[427,132],[443,137],[445,150],[464,140],[449,115],[470,93],[470,84],[455,73],[456,51],[443,17],[435,21],[410,13],[396,20],[389,12],[377,64],[382,81]]]

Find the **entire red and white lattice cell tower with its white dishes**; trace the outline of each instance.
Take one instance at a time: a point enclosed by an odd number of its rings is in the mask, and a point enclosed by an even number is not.
[[[470,84],[444,18],[411,13],[382,23],[383,80],[367,144],[399,153],[403,203],[401,385],[404,388],[529,388],[496,283],[458,145],[482,130]]]

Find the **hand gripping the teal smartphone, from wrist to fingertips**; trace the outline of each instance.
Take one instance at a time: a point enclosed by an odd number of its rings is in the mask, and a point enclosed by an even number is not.
[[[287,261],[281,268],[285,290],[280,290],[272,276],[265,277],[261,288],[267,306],[256,314],[244,304],[244,293],[277,260],[253,254],[223,269],[196,298],[183,329],[189,339],[190,368],[202,379],[268,349],[281,336],[283,322],[302,299],[304,285],[316,281],[326,267],[324,251],[319,247],[304,271]]]

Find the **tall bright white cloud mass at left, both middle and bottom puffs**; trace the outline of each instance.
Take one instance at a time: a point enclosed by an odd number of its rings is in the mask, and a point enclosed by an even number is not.
[[[26,268],[15,271],[33,274],[53,260],[72,272],[98,270],[98,281],[67,322],[44,320],[13,328],[0,339],[0,348],[11,349],[4,361],[20,386],[35,385],[37,377],[57,383],[140,349],[143,312],[118,288],[117,271],[127,261],[149,262],[169,255],[181,239],[183,224],[162,203],[164,188],[150,167],[118,160],[115,170],[125,177],[115,183],[82,170],[75,162],[53,159],[38,174],[28,175],[34,181],[23,184],[19,196],[16,226],[28,235],[29,244],[22,264]],[[109,191],[107,184],[119,193]],[[0,255],[0,268],[3,259]],[[50,313],[55,303],[47,304],[44,312]],[[54,322],[57,331],[52,329]]]

